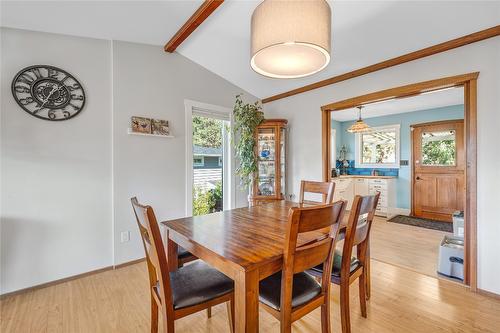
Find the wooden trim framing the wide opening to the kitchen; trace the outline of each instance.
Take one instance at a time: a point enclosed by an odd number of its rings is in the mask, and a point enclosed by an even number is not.
[[[330,103],[321,107],[323,180],[330,181],[331,113],[375,102],[411,97],[449,87],[464,88],[464,127],[467,165],[465,168],[465,248],[464,283],[477,291],[477,78],[479,72],[424,81],[381,90]]]

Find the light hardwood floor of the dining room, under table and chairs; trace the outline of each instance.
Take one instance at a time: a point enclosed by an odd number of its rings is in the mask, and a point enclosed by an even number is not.
[[[368,318],[361,317],[351,288],[354,332],[498,332],[500,301],[465,287],[377,260],[372,263]],[[331,297],[332,332],[340,332],[339,289]],[[146,263],[87,276],[7,297],[0,302],[0,331],[149,332]],[[200,312],[176,321],[176,332],[228,332],[226,308],[208,319]],[[294,332],[320,331],[320,311],[293,324]],[[260,311],[260,332],[279,332],[279,322]]]

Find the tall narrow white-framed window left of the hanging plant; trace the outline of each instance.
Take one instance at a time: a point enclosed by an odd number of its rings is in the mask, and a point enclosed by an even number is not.
[[[234,205],[231,110],[185,101],[186,215],[230,209]]]

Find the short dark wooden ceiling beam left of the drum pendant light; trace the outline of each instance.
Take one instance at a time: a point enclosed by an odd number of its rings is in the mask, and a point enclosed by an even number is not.
[[[196,10],[196,12],[184,23],[184,25],[177,31],[167,44],[165,44],[165,52],[172,53],[179,45],[182,44],[186,38],[193,33],[193,31],[200,26],[212,14],[217,7],[222,5],[224,0],[205,0],[203,4]]]

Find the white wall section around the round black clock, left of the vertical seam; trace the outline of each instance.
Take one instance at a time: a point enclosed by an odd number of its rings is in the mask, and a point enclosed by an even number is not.
[[[1,293],[112,265],[111,43],[1,29]],[[50,122],[14,101],[11,80],[48,64],[87,101]]]

